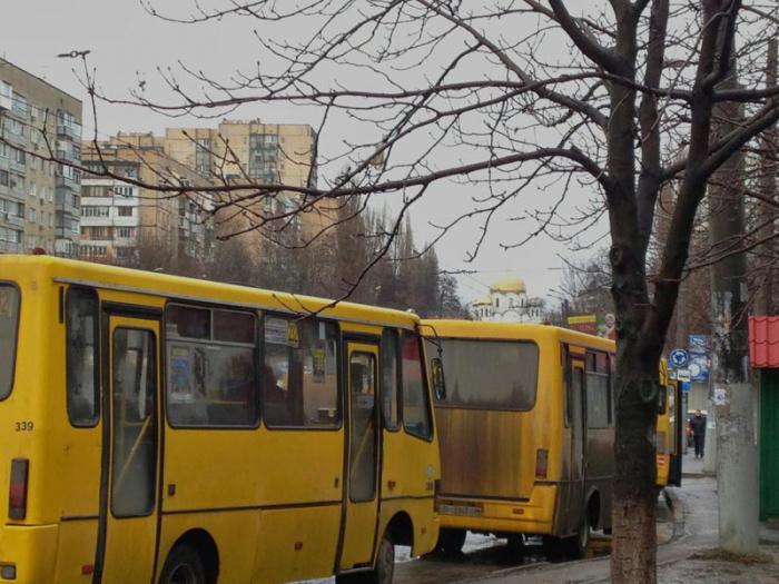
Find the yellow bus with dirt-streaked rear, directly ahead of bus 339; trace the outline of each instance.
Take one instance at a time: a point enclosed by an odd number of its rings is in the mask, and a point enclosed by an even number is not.
[[[590,529],[611,528],[614,343],[545,325],[422,330],[446,385],[435,403],[441,548],[458,552],[473,531],[542,535],[548,555],[583,556]]]

